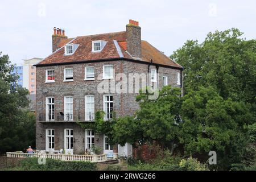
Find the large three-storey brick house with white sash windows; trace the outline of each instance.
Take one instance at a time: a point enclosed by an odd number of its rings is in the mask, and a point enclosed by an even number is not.
[[[84,154],[92,146],[98,146],[104,153],[119,149],[119,154],[130,154],[130,144],[126,148],[110,146],[107,136],[84,130],[76,122],[93,122],[98,110],[105,111],[106,120],[113,117],[112,111],[117,117],[134,114],[139,107],[134,78],[121,86],[133,92],[111,89],[118,86],[120,74],[127,76],[122,81],[133,73],[147,75],[137,84],[146,82],[152,88],[161,89],[163,85],[183,88],[183,67],[141,40],[141,27],[134,20],[126,25],[126,31],[76,38],[68,38],[64,30],[54,28],[52,51],[35,65],[38,150],[63,149]],[[104,92],[99,86],[102,83],[108,87]]]

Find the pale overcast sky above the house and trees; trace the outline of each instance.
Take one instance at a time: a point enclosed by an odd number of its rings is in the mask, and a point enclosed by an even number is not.
[[[232,27],[256,37],[255,0],[0,1],[0,52],[12,63],[52,53],[53,27],[69,38],[125,31],[129,19],[142,27],[142,39],[167,56],[188,40],[203,42],[208,32]]]

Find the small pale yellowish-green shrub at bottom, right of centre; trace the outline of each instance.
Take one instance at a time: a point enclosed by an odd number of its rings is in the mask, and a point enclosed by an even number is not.
[[[188,159],[180,160],[179,167],[183,171],[208,171],[205,164],[200,163],[197,159],[189,157]]]

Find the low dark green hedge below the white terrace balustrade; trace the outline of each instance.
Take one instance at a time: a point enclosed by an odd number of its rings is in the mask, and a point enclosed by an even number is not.
[[[46,164],[38,164],[38,158],[27,158],[20,161],[20,170],[25,171],[93,171],[96,163],[82,161],[61,161],[46,159]]]

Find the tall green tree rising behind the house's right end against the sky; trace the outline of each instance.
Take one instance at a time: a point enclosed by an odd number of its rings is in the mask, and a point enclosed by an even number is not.
[[[170,56],[185,68],[185,93],[213,86],[224,99],[256,104],[256,40],[241,36],[236,28],[210,32],[203,43],[188,40]]]

